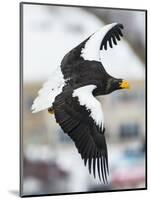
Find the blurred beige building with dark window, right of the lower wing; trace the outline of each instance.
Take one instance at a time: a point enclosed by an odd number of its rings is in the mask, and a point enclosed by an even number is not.
[[[100,97],[111,142],[145,137],[145,90],[143,80],[131,80],[130,90],[120,90]]]

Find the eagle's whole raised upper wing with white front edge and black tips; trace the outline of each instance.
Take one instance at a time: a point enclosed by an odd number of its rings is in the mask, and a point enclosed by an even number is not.
[[[82,60],[100,61],[100,50],[103,48],[107,50],[108,44],[111,48],[113,44],[117,45],[117,41],[123,36],[123,28],[123,25],[119,23],[103,26],[69,51],[61,62],[61,68],[64,69],[67,65],[81,62]]]

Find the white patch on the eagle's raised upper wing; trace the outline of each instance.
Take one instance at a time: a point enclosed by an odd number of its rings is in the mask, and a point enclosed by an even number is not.
[[[116,24],[117,23],[108,24],[95,32],[82,49],[81,57],[83,57],[85,60],[100,61],[100,44],[102,43],[106,33]]]

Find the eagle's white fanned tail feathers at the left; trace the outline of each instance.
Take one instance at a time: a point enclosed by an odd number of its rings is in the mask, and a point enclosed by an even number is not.
[[[65,80],[60,66],[52,73],[51,77],[44,83],[34,100],[31,110],[33,113],[52,107],[55,97],[62,92]]]

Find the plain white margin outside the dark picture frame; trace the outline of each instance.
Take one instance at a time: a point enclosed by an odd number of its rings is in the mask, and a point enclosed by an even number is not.
[[[25,2],[25,1],[24,1]],[[32,2],[32,1],[28,1]],[[132,0],[37,0],[39,3],[59,3],[59,4],[76,4],[101,7],[119,7],[148,9],[150,1],[132,1]],[[148,14],[148,21],[150,15]],[[150,27],[148,27],[148,44],[151,43],[149,38]],[[1,131],[0,131],[0,197],[1,199],[19,198],[16,191],[19,189],[19,1],[3,0],[0,5],[0,114],[1,114]],[[148,55],[148,58],[151,57]],[[149,68],[148,60],[148,68]],[[148,77],[151,77],[148,70]],[[148,85],[149,85],[148,81]],[[151,102],[150,94],[148,102]],[[149,106],[150,107],[150,106]],[[149,111],[148,111],[149,113]],[[150,134],[148,128],[148,139]],[[148,142],[148,152],[151,152],[151,144]],[[149,153],[148,153],[149,154]],[[150,154],[148,158],[150,157]],[[150,166],[150,160],[148,163]],[[149,167],[148,167],[149,169]],[[150,170],[148,174],[150,177]],[[94,193],[82,195],[65,195],[53,197],[35,197],[35,199],[112,199],[127,200],[137,198],[149,199],[151,195],[150,181],[148,178],[148,190],[130,191],[130,192],[112,192],[112,193]]]

